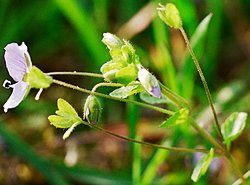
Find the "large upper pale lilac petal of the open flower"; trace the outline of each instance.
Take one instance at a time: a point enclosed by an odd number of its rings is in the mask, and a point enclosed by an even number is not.
[[[21,46],[18,46],[16,43],[11,43],[8,44],[4,49],[4,58],[10,76],[15,81],[21,81],[24,74],[28,72],[27,62],[29,62],[29,64],[31,65],[27,46],[24,43],[22,43]],[[27,61],[26,58],[29,61]]]

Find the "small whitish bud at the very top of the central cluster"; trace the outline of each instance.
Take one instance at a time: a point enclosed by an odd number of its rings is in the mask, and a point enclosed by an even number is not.
[[[111,33],[104,33],[102,42],[109,48],[109,50],[121,48],[123,45],[122,40]]]

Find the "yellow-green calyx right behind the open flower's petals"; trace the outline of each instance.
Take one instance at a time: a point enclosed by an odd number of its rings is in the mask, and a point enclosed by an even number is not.
[[[32,88],[48,88],[53,82],[50,76],[47,76],[36,66],[32,66],[30,71],[24,75],[23,81],[28,82]]]

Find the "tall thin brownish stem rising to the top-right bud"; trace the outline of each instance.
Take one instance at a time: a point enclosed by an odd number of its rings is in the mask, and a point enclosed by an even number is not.
[[[214,108],[214,105],[213,105],[212,96],[211,96],[211,93],[210,93],[208,85],[207,85],[207,81],[206,81],[206,79],[205,79],[205,77],[203,75],[203,72],[201,70],[199,62],[198,62],[198,60],[197,60],[197,58],[196,58],[196,56],[194,54],[194,51],[193,51],[193,49],[192,49],[192,47],[190,45],[190,42],[189,42],[189,39],[187,37],[187,34],[186,34],[185,30],[181,27],[180,31],[181,31],[181,34],[182,34],[184,40],[185,40],[188,51],[189,51],[189,53],[190,53],[190,55],[191,55],[191,57],[192,57],[192,59],[194,61],[194,64],[195,64],[196,68],[197,68],[197,71],[198,71],[198,73],[200,75],[201,81],[203,83],[203,86],[204,86],[204,89],[205,89],[205,92],[206,92],[206,95],[207,95],[207,98],[208,98],[208,102],[209,102],[211,110],[213,112],[213,116],[214,116],[214,120],[215,120],[215,124],[216,124],[216,127],[217,127],[217,131],[219,133],[219,136],[220,136],[220,138],[223,138],[222,133],[221,133],[220,124],[219,124],[219,121],[218,121],[218,118],[217,118],[217,114],[216,114],[216,111],[215,111],[215,108]]]

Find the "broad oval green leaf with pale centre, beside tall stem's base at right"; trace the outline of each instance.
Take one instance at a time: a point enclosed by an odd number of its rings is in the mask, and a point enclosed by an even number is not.
[[[224,138],[224,143],[230,144],[243,131],[246,126],[247,113],[234,112],[221,126],[221,132]]]

